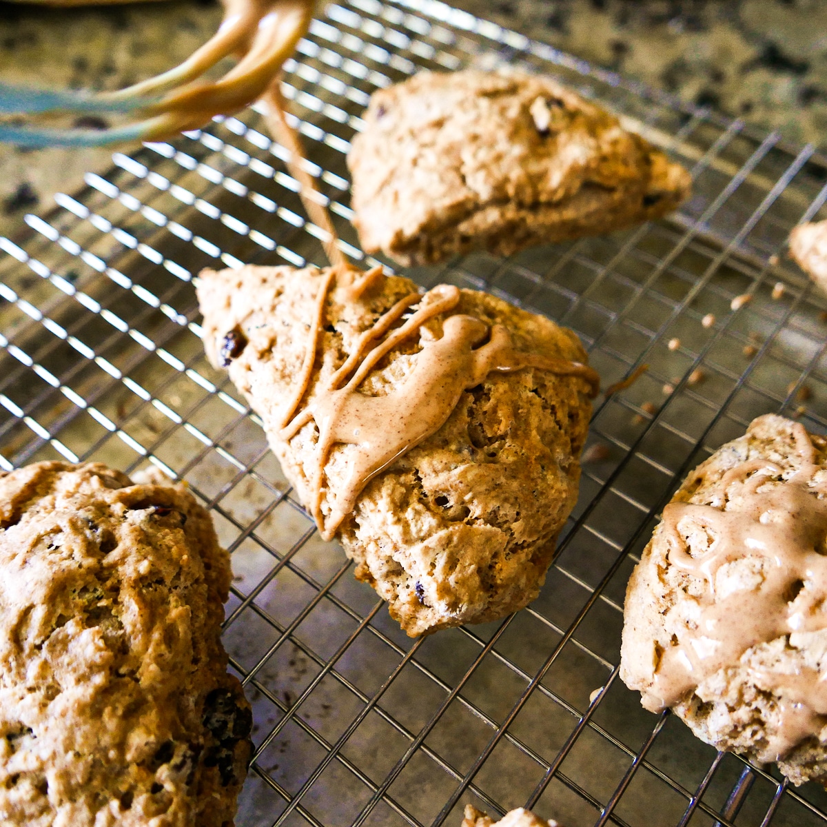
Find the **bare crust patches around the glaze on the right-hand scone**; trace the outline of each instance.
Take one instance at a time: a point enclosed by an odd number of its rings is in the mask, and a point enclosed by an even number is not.
[[[791,420],[767,414],[754,419],[743,437],[720,447],[701,463],[677,490],[672,502],[714,504],[710,492],[724,473],[744,461],[766,459],[777,463],[784,478],[791,476],[800,463],[795,452]],[[821,437],[810,437],[816,448],[820,471],[815,480],[827,480],[827,444]],[[742,483],[728,487],[726,509],[740,508]],[[711,529],[681,528],[691,556],[708,549]],[[670,646],[673,633],[681,633],[681,618],[691,616],[694,596],[708,588],[700,577],[691,576],[673,566],[668,558],[669,547],[662,523],[643,551],[641,562],[634,569],[626,592],[620,676],[630,689],[646,691],[653,686],[658,651]],[[716,576],[721,576],[719,590],[732,593],[739,588],[753,588],[755,558],[743,557],[731,562]],[[806,588],[806,586],[805,586]],[[814,668],[823,673],[827,667],[827,634],[799,632],[784,635],[768,643],[753,646],[736,665],[724,667],[696,691],[681,700],[672,711],[706,743],[715,748],[745,753],[759,753],[768,739],[779,729],[779,698],[772,691],[754,685],[751,674],[761,670],[775,674],[796,674]],[[810,779],[827,779],[827,729],[793,748],[778,761],[778,767],[795,784]]]

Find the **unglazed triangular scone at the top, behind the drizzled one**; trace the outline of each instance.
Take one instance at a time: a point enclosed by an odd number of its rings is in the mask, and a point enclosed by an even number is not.
[[[367,252],[404,265],[629,227],[674,210],[689,174],[556,81],[423,72],[373,94],[347,164]]]

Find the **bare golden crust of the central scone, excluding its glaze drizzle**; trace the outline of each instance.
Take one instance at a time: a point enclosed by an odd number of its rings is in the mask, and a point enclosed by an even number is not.
[[[247,266],[204,271],[198,284],[209,360],[222,366],[227,335],[242,337],[230,377],[261,416],[304,504],[318,430],[311,421],[289,442],[278,430],[325,272]],[[356,302],[339,304],[336,291],[328,294],[305,403],[326,386],[361,332],[415,290],[410,280],[390,276]],[[503,323],[522,350],[586,361],[574,333],[494,296],[462,290],[455,312]],[[442,318],[380,361],[361,392],[380,395],[398,386],[422,342],[442,335]],[[356,562],[356,576],[389,602],[409,635],[499,618],[537,597],[576,501],[588,393],[585,380],[532,368],[488,375],[461,395],[442,428],[370,480],[337,538]],[[327,479],[347,472],[353,450],[333,448]]]

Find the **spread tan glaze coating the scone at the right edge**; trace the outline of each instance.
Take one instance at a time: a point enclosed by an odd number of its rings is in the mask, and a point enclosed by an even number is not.
[[[784,480],[777,463],[755,459],[727,471],[711,493],[712,505],[670,503],[662,530],[672,566],[705,584],[677,618],[680,631],[661,653],[643,705],[662,710],[695,691],[720,669],[734,666],[748,649],[793,633],[827,629],[827,500],[816,482],[815,448],[793,425],[801,464]],[[692,534],[705,552],[692,556]],[[743,566],[748,559],[750,565]],[[729,564],[740,562],[735,581]],[[751,668],[755,686],[778,698],[780,725],[761,761],[776,761],[827,724],[827,673],[796,674]]]

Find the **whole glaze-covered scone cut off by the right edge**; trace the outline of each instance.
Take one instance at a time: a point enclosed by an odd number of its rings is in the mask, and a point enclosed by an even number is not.
[[[663,511],[626,594],[620,676],[702,740],[827,780],[827,444],[775,415]]]

